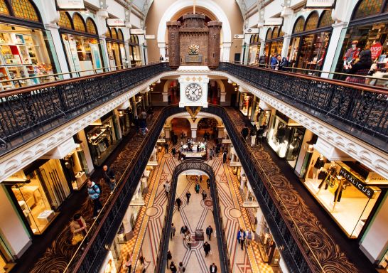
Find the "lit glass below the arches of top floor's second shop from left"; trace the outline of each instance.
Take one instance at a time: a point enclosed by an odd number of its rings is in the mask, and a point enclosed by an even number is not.
[[[62,40],[71,71],[102,68],[102,60],[99,53],[100,45],[97,38],[63,33]],[[99,70],[97,70],[97,72],[99,72]],[[80,73],[81,76],[92,74],[94,74],[94,71]]]

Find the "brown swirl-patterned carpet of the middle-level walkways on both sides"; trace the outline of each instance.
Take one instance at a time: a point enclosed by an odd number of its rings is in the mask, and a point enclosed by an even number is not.
[[[179,108],[176,106],[166,107],[166,109],[176,109],[179,111]],[[157,123],[163,124],[163,120],[166,117],[166,109],[163,109],[161,112],[164,112],[165,114],[156,114],[153,120],[157,120]],[[209,111],[218,112],[219,114],[224,112],[226,114],[222,118],[224,119],[228,132],[232,133],[230,135],[237,134],[237,132],[241,131],[245,122],[244,117],[242,117],[235,109],[227,108],[227,112],[225,112],[225,108],[211,106],[210,109],[206,110],[206,112]],[[229,125],[227,124],[232,124],[232,127],[228,128]],[[156,125],[157,124],[153,124],[151,130],[156,129]],[[230,132],[230,130],[233,132]],[[356,243],[347,239],[345,235],[343,235],[343,232],[340,232],[337,225],[333,223],[333,220],[330,220],[328,215],[323,213],[316,201],[300,186],[298,179],[289,166],[282,164],[281,161],[276,159],[276,156],[271,153],[270,149],[266,149],[265,145],[264,148],[250,148],[250,146],[244,143],[242,139],[235,138],[232,140],[239,158],[243,159],[243,157],[245,157],[254,160],[254,168],[261,170],[256,173],[256,176],[259,174],[259,178],[262,179],[262,183],[264,183],[265,188],[268,189],[268,198],[279,203],[275,210],[279,210],[281,218],[284,218],[286,221],[286,226],[284,226],[284,228],[288,229],[287,227],[289,227],[292,230],[291,232],[293,232],[294,239],[289,240],[298,241],[298,247],[301,247],[301,250],[306,252],[304,255],[310,259],[309,263],[312,266],[311,268],[316,268],[316,270],[309,270],[316,272],[373,272],[374,269],[372,264],[370,264],[366,257],[362,255]],[[126,170],[131,170],[132,166],[139,163],[138,161],[134,161],[134,158],[139,156],[142,147],[146,145],[144,141],[148,141],[148,139],[136,137],[134,141],[129,141],[126,146],[121,147],[121,151],[115,153],[117,154],[117,159],[114,161],[113,166],[117,168],[120,174],[125,174]],[[149,146],[153,145],[153,143],[149,144]],[[237,149],[237,146],[241,149]],[[246,151],[244,154],[239,152],[243,151],[242,149]],[[258,184],[256,178],[249,175],[251,166],[244,166],[243,160],[242,164],[247,171],[249,182],[252,185],[257,199],[259,200],[259,203],[263,204],[261,206],[264,208],[265,203],[262,202],[267,202],[268,200],[262,199],[262,193],[259,192],[262,186]],[[173,168],[173,165],[170,165],[169,168]],[[131,181],[132,186],[136,187],[135,184],[136,180]],[[115,200],[115,202],[121,200],[119,195],[123,190],[122,186],[122,183],[117,185],[117,191],[115,191],[112,196],[108,197],[110,201],[108,200],[109,202],[106,205],[106,209],[102,210],[99,218],[97,218],[93,227],[90,228],[90,237],[88,237],[90,242],[89,245],[87,245],[87,250],[92,250],[90,247],[93,245],[93,241],[97,240],[96,234],[93,232],[97,232],[98,230],[99,232],[102,232],[99,225],[103,226],[104,223],[109,221],[111,214],[116,215],[115,211],[112,210],[112,200]],[[127,198],[130,200],[131,196],[127,196]],[[74,213],[80,210],[82,215],[85,215],[86,217],[87,215],[92,215],[92,206],[90,202],[84,199],[84,201],[81,201],[81,204],[81,210],[80,208],[75,208]],[[271,210],[269,212],[270,215],[266,215],[266,217],[273,217],[274,214],[276,214],[276,211]],[[277,214],[279,215],[279,213]],[[87,218],[87,223],[92,223],[90,218]],[[279,231],[275,230],[273,232]],[[38,260],[31,272],[47,272],[50,268],[58,269],[60,267],[65,267],[65,264],[67,264],[72,253],[75,251],[74,247],[69,247],[70,235],[68,226],[65,225],[63,229],[59,229],[57,236],[58,237],[53,240],[53,243],[46,242],[49,243],[50,246],[43,257]],[[36,245],[33,247],[36,247]],[[80,252],[78,255],[86,257],[85,253],[82,254],[81,249],[78,249],[78,251]],[[303,257],[300,258],[303,259]],[[77,261],[81,262],[82,259],[75,259],[75,262]]]

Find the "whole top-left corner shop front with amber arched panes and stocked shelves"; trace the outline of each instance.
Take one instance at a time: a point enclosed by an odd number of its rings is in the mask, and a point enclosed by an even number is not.
[[[0,83],[0,91],[50,82],[55,80],[50,75],[60,73],[51,33],[38,10],[29,1],[24,9],[14,2],[0,9],[0,81],[9,80]]]

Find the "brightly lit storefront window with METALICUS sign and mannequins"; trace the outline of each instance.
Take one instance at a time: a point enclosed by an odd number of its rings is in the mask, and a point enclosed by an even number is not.
[[[305,186],[350,238],[357,238],[380,188],[367,186],[370,171],[353,161],[331,161],[313,152]]]

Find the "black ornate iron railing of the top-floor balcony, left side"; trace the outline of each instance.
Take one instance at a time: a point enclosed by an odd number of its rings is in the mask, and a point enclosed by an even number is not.
[[[0,92],[0,155],[166,70],[158,63]]]

